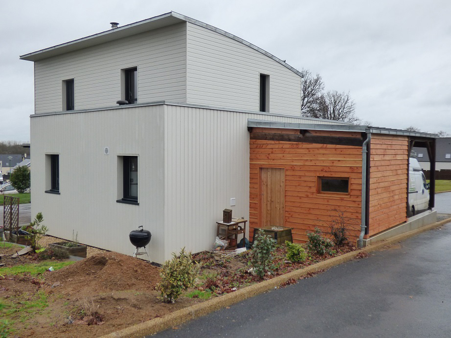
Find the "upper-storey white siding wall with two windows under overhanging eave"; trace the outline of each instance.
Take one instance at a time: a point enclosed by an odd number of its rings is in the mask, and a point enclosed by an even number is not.
[[[186,23],[35,62],[35,112],[61,111],[62,81],[74,79],[75,109],[114,106],[120,70],[138,68],[138,103],[186,102]]]

